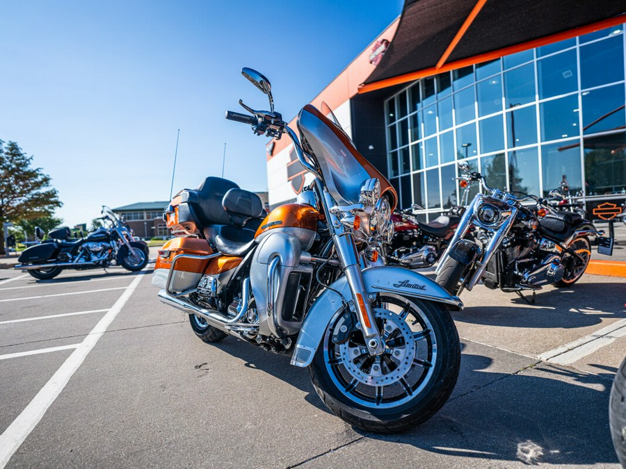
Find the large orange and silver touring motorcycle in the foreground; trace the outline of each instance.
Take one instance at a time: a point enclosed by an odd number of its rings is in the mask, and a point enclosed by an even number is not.
[[[396,192],[330,110],[300,110],[298,139],[274,112],[269,81],[242,73],[270,110],[239,101],[250,115],[227,119],[257,135],[286,133],[314,182],[267,216],[257,195],[225,179],[179,192],[166,210],[179,238],[159,252],[152,280],[159,299],[188,313],[207,343],[230,335],[291,354],[346,422],[374,431],[424,422],[456,384],[460,347],[448,311],[463,304],[421,274],[382,265]]]

